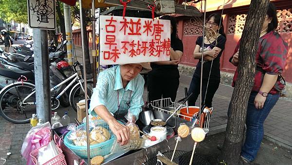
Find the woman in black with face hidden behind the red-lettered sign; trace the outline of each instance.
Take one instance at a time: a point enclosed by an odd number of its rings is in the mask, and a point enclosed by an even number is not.
[[[170,61],[151,63],[152,70],[147,75],[148,99],[171,98],[175,101],[180,84],[178,64],[183,55],[183,42],[177,36],[175,17],[162,16],[160,19],[170,20],[171,24]]]

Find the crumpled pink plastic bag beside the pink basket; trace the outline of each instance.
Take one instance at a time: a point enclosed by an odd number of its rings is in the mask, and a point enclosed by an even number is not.
[[[30,157],[31,151],[48,144],[51,141],[51,124],[46,122],[33,127],[27,132],[21,148],[21,155],[27,160],[26,165],[34,165]]]

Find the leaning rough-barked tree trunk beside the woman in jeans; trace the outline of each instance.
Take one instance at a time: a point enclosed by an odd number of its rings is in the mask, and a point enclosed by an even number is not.
[[[257,43],[270,0],[251,0],[239,46],[238,78],[230,101],[222,160],[238,165],[248,99],[254,85]]]

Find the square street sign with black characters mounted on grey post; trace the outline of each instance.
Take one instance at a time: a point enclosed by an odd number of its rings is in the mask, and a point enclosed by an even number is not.
[[[55,0],[28,0],[30,28],[55,30]]]

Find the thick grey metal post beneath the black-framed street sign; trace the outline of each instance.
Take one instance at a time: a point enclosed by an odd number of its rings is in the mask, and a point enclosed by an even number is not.
[[[47,30],[34,29],[37,117],[51,121],[51,92]],[[37,36],[37,37],[36,37]]]

